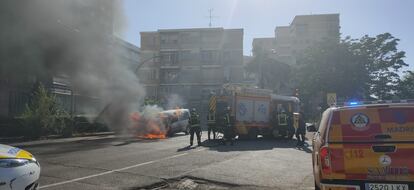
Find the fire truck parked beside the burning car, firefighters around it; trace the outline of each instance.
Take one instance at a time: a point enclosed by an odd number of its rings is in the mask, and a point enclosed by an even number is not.
[[[231,127],[240,139],[289,138],[299,125],[300,101],[294,96],[282,96],[271,90],[224,85],[211,94],[209,114],[216,118],[215,128],[223,133],[224,115],[230,108]],[[287,115],[287,125],[280,125],[278,114]]]

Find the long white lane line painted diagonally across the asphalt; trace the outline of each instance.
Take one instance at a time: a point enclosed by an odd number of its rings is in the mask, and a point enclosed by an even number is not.
[[[81,180],[84,180],[84,179],[93,178],[93,177],[97,177],[97,176],[102,176],[102,175],[106,175],[106,174],[110,174],[110,173],[114,173],[114,172],[120,172],[120,171],[128,170],[128,169],[131,169],[131,168],[152,164],[154,162],[159,162],[159,161],[163,161],[163,160],[167,160],[167,159],[171,159],[171,158],[177,158],[177,157],[180,157],[180,156],[185,156],[187,154],[188,153],[177,154],[177,155],[174,155],[174,156],[161,158],[161,159],[158,159],[158,160],[153,160],[153,161],[144,162],[144,163],[140,163],[140,164],[135,164],[135,165],[132,165],[132,166],[127,166],[127,167],[123,167],[123,168],[119,168],[119,169],[115,169],[115,170],[110,170],[110,171],[107,171],[107,172],[88,175],[88,176],[85,176],[85,177],[80,177],[80,178],[71,179],[71,180],[67,180],[67,181],[62,181],[62,182],[58,182],[58,183],[52,183],[52,184],[49,184],[49,185],[40,186],[39,189],[45,189],[45,188],[54,187],[54,186],[58,186],[58,185],[63,185],[63,184],[67,184],[67,183],[73,183],[73,182],[81,181]]]

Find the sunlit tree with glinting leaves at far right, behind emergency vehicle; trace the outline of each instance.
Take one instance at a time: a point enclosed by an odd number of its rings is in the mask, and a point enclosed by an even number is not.
[[[397,90],[400,82],[398,72],[408,66],[403,60],[405,52],[397,49],[399,41],[390,33],[384,33],[375,37],[365,35],[350,43],[351,50],[365,59],[365,68],[369,73],[365,91],[367,97],[389,99]]]

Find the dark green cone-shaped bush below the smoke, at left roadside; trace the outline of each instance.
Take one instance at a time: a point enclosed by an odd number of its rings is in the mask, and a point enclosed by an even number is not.
[[[22,114],[27,138],[61,134],[69,115],[59,107],[55,96],[40,84]]]

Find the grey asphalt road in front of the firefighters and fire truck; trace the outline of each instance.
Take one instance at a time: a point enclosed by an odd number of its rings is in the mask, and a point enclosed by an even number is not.
[[[204,135],[206,133],[204,132]],[[238,189],[313,189],[311,150],[294,141],[205,141],[186,148],[189,136],[163,140],[115,136],[26,144],[39,160],[40,189],[155,188],[183,177]]]

